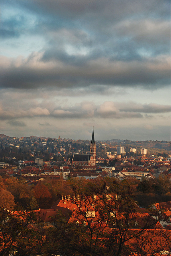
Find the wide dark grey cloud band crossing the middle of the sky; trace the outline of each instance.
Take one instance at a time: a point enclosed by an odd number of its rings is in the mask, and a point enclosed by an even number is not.
[[[111,62],[103,58],[90,60],[85,66],[73,66],[62,62],[43,63],[35,54],[19,63],[10,62],[1,72],[2,88],[73,88],[91,84],[165,86],[170,84],[170,64],[165,58],[148,62]]]

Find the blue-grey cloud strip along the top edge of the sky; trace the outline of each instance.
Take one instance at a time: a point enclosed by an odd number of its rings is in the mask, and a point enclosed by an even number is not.
[[[16,1],[18,2],[18,1]],[[92,17],[92,19],[106,22],[110,20],[121,20],[125,17],[130,16],[151,16],[155,18],[169,18],[170,15],[170,1],[158,1],[151,0],[37,0],[37,1],[20,1],[20,4],[30,8],[30,10],[37,11],[37,13],[54,15],[54,16],[64,16],[65,18],[70,18],[77,20],[77,17]],[[101,14],[101,16],[99,16]],[[103,20],[103,17],[105,19]],[[106,25],[106,23],[105,23]]]

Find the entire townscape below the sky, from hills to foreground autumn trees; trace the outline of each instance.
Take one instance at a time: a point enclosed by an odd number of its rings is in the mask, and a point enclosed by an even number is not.
[[[170,142],[0,142],[1,255],[171,254]]]

